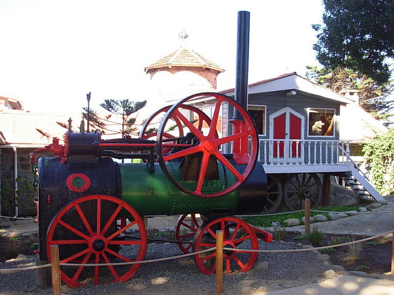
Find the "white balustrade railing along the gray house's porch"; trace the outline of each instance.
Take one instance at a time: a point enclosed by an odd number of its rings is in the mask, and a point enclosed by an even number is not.
[[[263,165],[340,165],[349,163],[350,142],[338,140],[259,139]]]

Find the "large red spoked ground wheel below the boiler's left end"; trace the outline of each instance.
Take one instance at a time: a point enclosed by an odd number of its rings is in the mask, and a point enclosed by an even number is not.
[[[118,228],[119,212],[130,223]],[[127,229],[139,232],[125,239]],[[71,201],[52,220],[46,240],[48,260],[51,245],[59,245],[60,263],[119,263],[142,261],[147,247],[145,226],[138,213],[124,201],[91,195]],[[140,264],[125,266],[61,266],[61,279],[70,287],[108,282],[126,282]]]

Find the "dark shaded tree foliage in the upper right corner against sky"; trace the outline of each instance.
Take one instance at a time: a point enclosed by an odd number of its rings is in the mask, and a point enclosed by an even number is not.
[[[323,0],[323,25],[313,49],[321,64],[357,70],[379,84],[388,82],[394,58],[392,0]]]

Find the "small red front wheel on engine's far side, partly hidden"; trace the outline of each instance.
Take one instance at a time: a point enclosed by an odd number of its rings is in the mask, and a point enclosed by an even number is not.
[[[197,219],[196,214],[183,214],[179,216],[178,223],[175,227],[175,239],[177,241],[185,241],[185,243],[178,244],[183,253],[191,253],[193,237],[201,224],[202,220]]]

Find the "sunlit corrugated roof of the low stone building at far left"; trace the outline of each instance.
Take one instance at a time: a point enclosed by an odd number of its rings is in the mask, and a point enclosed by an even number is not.
[[[72,118],[72,125],[76,129],[81,121],[80,114],[36,113],[21,110],[6,110],[0,112],[0,131],[7,144],[13,145],[48,145],[52,138],[42,136],[36,128],[46,132],[51,137],[63,139],[66,129],[56,122],[68,123]]]

